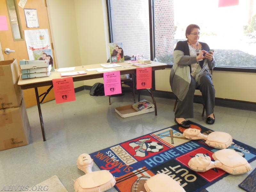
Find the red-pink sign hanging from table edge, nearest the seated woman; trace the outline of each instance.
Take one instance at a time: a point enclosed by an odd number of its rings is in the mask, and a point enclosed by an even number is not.
[[[137,89],[150,89],[152,87],[152,68],[136,68]]]

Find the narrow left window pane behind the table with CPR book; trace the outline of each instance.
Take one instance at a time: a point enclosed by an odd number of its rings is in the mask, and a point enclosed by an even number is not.
[[[148,0],[109,0],[113,42],[122,42],[124,55],[150,58]]]

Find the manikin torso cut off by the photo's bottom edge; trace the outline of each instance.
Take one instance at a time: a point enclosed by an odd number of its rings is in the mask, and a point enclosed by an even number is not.
[[[161,173],[148,179],[144,187],[147,192],[186,192],[180,182],[173,180],[170,176]]]

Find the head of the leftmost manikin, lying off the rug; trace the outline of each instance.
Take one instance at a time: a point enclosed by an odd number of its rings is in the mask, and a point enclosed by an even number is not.
[[[87,173],[92,171],[93,159],[87,153],[81,154],[76,160],[77,168]]]

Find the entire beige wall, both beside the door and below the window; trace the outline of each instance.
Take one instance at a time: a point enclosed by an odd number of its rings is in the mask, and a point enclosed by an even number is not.
[[[109,56],[106,1],[48,1],[57,67],[106,62]],[[156,71],[156,90],[171,91],[170,70]],[[96,82],[103,82],[103,79],[75,82],[75,87]],[[217,98],[256,102],[255,82],[255,73],[213,72]]]

